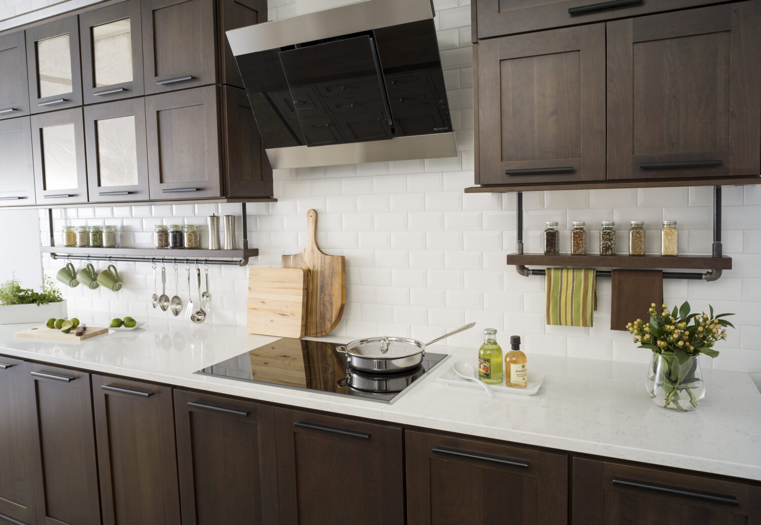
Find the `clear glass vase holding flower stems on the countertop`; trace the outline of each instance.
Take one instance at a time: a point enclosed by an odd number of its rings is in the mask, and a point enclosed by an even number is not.
[[[683,363],[653,352],[646,384],[653,403],[663,409],[689,412],[705,397],[703,375],[697,355]]]

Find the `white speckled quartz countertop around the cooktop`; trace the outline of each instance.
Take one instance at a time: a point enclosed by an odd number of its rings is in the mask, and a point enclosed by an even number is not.
[[[235,326],[150,320],[140,329],[82,342],[13,335],[30,326],[0,325],[0,353],[336,414],[761,480],[761,394],[742,372],[704,370],[705,399],[695,411],[677,413],[651,402],[641,364],[529,352],[530,372],[546,374],[539,393],[495,393],[489,399],[482,390],[437,380],[457,359],[475,362],[475,349],[432,346],[451,358],[388,404],[194,374],[278,339]]]

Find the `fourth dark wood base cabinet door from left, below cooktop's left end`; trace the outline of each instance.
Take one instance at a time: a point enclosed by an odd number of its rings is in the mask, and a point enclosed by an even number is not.
[[[182,523],[279,523],[274,409],[175,389],[174,417]]]

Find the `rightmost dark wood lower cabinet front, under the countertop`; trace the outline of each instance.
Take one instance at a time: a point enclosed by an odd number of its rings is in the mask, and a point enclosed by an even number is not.
[[[573,523],[740,525],[761,521],[761,487],[629,464],[573,460]]]

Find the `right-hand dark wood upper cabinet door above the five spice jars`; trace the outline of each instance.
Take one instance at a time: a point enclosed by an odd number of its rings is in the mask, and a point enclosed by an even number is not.
[[[607,178],[761,173],[761,2],[607,24]]]

